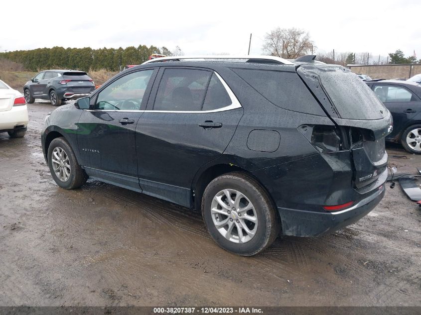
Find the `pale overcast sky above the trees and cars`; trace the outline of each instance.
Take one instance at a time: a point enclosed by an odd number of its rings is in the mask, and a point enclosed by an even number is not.
[[[420,0],[2,0],[0,50],[178,45],[190,54],[262,53],[266,32],[297,27],[319,50],[396,49],[421,58]]]

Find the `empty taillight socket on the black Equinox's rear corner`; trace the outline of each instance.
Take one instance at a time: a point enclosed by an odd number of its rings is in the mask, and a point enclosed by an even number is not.
[[[314,126],[311,144],[320,153],[342,150],[341,137],[333,126]]]

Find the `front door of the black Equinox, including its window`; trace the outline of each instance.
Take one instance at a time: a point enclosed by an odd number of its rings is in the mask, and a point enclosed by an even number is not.
[[[135,129],[157,70],[142,69],[120,76],[91,100],[78,122],[81,165],[91,177],[140,190]]]

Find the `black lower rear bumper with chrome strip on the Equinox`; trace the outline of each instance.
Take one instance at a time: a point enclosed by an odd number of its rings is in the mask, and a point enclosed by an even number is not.
[[[314,212],[278,208],[282,222],[282,234],[293,236],[321,236],[352,224],[374,209],[386,192],[382,185],[374,193],[351,208],[336,212]]]

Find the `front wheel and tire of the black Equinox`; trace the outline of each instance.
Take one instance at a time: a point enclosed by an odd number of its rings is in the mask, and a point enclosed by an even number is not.
[[[62,164],[54,163],[53,160],[62,162]],[[62,137],[53,139],[48,147],[48,167],[56,184],[64,189],[78,188],[88,179],[78,164],[69,143]]]

